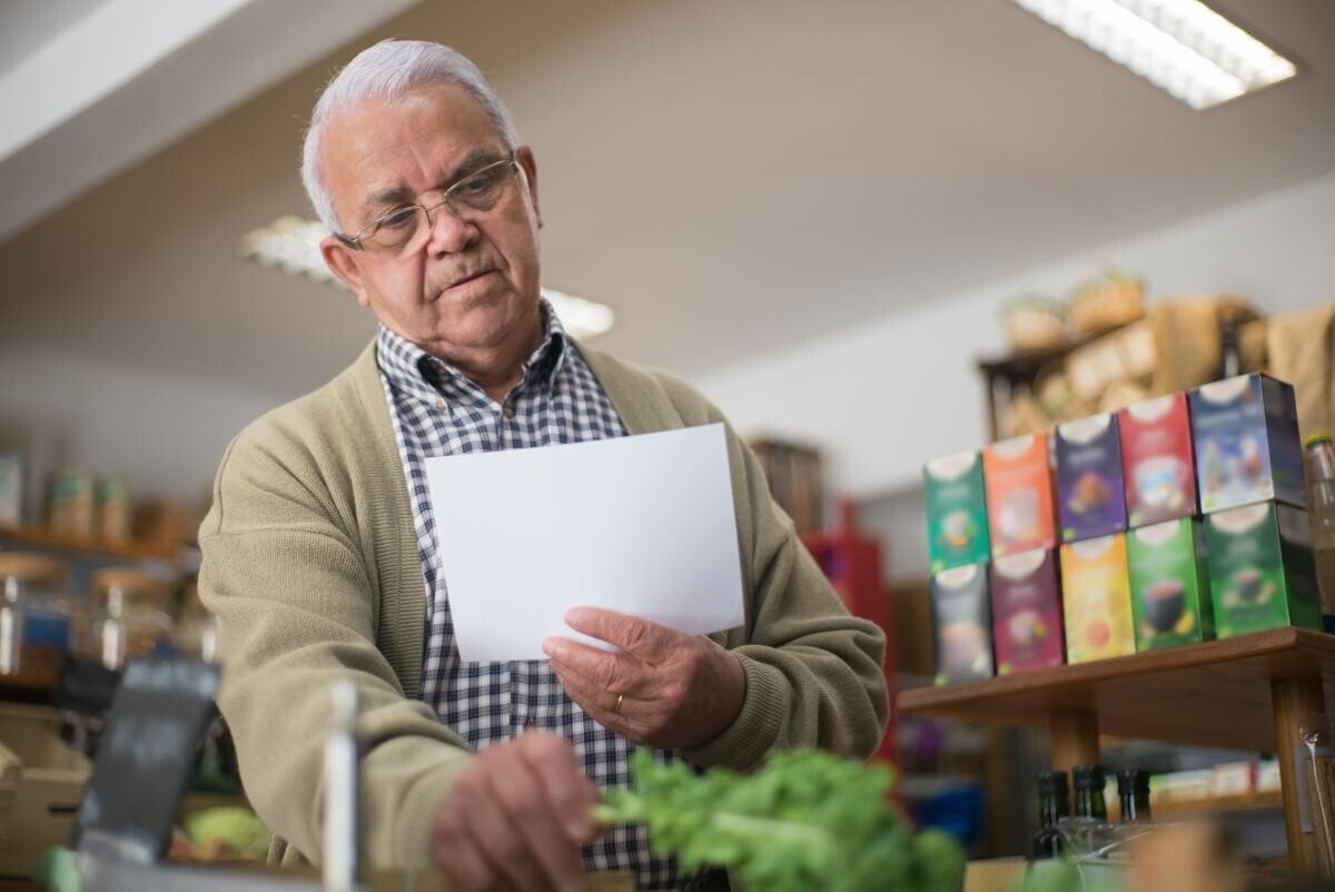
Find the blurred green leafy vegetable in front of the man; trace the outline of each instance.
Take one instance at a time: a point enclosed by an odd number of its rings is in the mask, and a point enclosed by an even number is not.
[[[697,774],[631,762],[634,791],[613,789],[602,824],[643,824],[657,855],[725,867],[756,892],[959,892],[964,855],[947,835],[914,835],[886,793],[893,774],[818,750],[777,753],[764,769]]]

